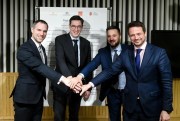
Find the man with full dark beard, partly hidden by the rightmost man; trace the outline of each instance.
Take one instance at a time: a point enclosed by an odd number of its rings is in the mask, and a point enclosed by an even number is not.
[[[110,26],[106,29],[107,35],[107,46],[99,49],[98,54],[93,60],[80,72],[78,80],[88,76],[88,74],[94,71],[99,65],[102,70],[108,69],[113,63],[113,58],[116,56],[115,51],[119,55],[126,46],[121,43],[121,32],[116,26]],[[116,75],[109,81],[101,84],[99,100],[103,101],[107,96],[107,103],[109,109],[109,115],[111,121],[121,120],[121,105],[122,105],[122,94],[126,83],[124,72],[120,75]],[[117,82],[118,81],[118,82]],[[70,85],[71,86],[71,85]]]

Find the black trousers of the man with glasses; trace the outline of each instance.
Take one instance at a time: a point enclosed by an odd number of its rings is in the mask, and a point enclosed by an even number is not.
[[[54,93],[54,121],[65,121],[66,106],[69,106],[69,121],[79,121],[78,114],[81,96],[72,91],[59,95]]]

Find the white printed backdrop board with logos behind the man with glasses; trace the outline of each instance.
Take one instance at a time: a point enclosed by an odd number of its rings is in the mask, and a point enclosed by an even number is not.
[[[69,19],[73,15],[79,15],[84,19],[84,26],[81,36],[91,42],[92,57],[97,54],[99,48],[106,45],[107,8],[70,8],[70,7],[40,7],[40,19],[45,20],[49,25],[46,39],[43,46],[46,48],[48,65],[55,68],[55,37],[69,32]],[[94,76],[101,71],[99,67],[94,71]],[[47,97],[45,106],[52,105],[52,91],[49,89],[47,80]],[[87,101],[82,99],[81,105],[104,105],[98,101],[99,87],[91,91]]]

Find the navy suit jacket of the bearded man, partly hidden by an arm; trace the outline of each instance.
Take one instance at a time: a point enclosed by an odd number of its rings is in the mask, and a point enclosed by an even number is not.
[[[122,51],[126,49],[125,45],[121,45]],[[112,56],[110,46],[107,45],[104,48],[99,49],[98,54],[93,58],[93,60],[81,71],[81,73],[86,77],[92,71],[94,71],[99,65],[101,65],[102,70],[108,69],[112,65]],[[99,100],[103,101],[105,97],[109,94],[111,87],[118,81],[118,75],[113,76],[107,81],[101,84]]]

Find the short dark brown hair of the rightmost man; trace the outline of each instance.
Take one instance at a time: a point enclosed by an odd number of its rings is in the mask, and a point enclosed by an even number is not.
[[[127,25],[128,31],[129,31],[129,28],[131,28],[131,27],[142,27],[143,32],[144,32],[144,33],[146,32],[146,27],[145,27],[145,25],[144,25],[142,22],[140,22],[140,21],[132,21],[132,22],[130,22],[130,23]]]

